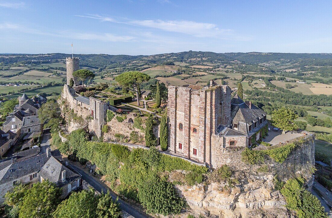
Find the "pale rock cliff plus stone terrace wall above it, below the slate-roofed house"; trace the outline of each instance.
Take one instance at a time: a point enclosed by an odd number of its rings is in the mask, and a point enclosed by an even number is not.
[[[264,163],[249,165],[241,161],[243,149],[224,150],[229,157],[225,163],[233,170],[232,178],[238,180],[230,186],[227,182],[205,182],[195,186],[177,185],[194,214],[208,217],[294,217],[286,208],[285,198],[275,187],[276,177],[286,181],[302,177],[307,188],[313,183],[314,137],[296,139],[300,142],[282,163],[266,157]],[[264,168],[264,170],[262,170]]]

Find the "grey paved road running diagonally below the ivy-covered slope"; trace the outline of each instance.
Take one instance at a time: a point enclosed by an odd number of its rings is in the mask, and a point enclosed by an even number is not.
[[[85,181],[87,181],[98,192],[101,193],[103,191],[104,193],[107,193],[107,190],[110,190],[110,194],[111,194],[113,200],[115,200],[117,198],[117,195],[111,189],[109,189],[105,184],[102,184],[101,182],[99,182],[98,180],[96,180],[95,178],[93,178],[93,176],[87,174],[86,172],[84,172],[80,168],[78,168],[78,167],[76,167],[74,165],[70,165],[70,166],[72,168],[74,168],[77,172],[79,172],[82,175],[82,178]],[[120,208],[122,210],[124,210],[125,212],[129,213],[131,216],[133,216],[135,218],[149,217],[148,215],[144,215],[141,212],[137,211],[134,207],[132,207],[130,204],[124,202],[120,198],[119,198],[118,202],[120,203]]]

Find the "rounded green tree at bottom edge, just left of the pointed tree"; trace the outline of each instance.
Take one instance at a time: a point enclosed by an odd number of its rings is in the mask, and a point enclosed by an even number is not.
[[[96,218],[98,199],[92,190],[72,193],[62,201],[53,213],[53,217],[61,218]],[[48,216],[49,217],[49,216]]]

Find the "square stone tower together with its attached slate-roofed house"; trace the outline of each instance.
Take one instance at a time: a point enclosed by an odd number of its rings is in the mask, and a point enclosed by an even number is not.
[[[226,85],[168,87],[168,146],[171,152],[216,168],[225,148],[250,147],[267,128],[266,113],[231,99]]]

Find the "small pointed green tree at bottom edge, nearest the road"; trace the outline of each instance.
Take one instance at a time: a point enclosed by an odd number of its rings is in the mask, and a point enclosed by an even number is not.
[[[102,194],[99,198],[96,213],[98,218],[118,218],[120,216],[119,203],[117,203],[117,200],[112,200],[109,190],[107,194]]]

